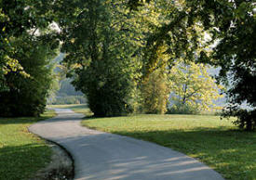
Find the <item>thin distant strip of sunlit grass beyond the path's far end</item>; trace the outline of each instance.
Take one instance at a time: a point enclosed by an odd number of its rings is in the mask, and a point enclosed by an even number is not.
[[[51,109],[72,109],[76,113],[83,113],[87,115],[92,115],[88,105],[86,104],[71,104],[71,105],[47,105],[47,108]]]

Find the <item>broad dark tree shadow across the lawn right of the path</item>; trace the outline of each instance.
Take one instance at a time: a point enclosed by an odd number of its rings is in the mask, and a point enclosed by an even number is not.
[[[218,128],[190,131],[115,131],[161,146],[173,148],[203,161],[227,179],[253,179],[256,176],[256,132]]]

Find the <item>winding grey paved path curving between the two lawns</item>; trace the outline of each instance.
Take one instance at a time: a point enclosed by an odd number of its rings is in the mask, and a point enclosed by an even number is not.
[[[153,143],[80,126],[82,114],[55,109],[57,117],[29,130],[66,148],[74,158],[74,179],[217,180],[208,166]]]

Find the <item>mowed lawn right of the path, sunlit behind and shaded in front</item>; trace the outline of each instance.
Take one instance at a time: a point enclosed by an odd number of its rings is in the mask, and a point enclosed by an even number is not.
[[[82,122],[97,130],[128,135],[181,151],[226,179],[256,179],[256,133],[207,115],[136,115]]]

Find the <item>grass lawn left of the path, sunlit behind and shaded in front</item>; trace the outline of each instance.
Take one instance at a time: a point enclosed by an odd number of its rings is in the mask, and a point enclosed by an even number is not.
[[[47,110],[40,118],[0,118],[0,179],[28,179],[47,165],[51,148],[27,127],[53,116],[55,112]]]

